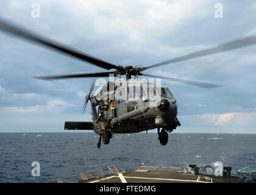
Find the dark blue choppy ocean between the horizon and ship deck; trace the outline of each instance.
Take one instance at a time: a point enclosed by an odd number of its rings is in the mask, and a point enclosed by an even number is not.
[[[98,149],[94,133],[0,133],[0,182],[48,182],[80,172],[136,169],[144,166],[224,166],[256,169],[256,135],[168,133],[162,146],[157,133],[115,134]],[[33,161],[40,176],[31,174]]]

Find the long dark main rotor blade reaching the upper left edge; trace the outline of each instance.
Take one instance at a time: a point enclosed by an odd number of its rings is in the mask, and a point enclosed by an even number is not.
[[[29,30],[25,30],[21,27],[18,27],[15,24],[10,24],[9,22],[7,23],[7,21],[4,21],[1,18],[0,18],[0,30],[8,34],[16,35],[20,38],[24,38],[26,40],[33,41],[38,44],[43,44],[44,46],[48,46],[51,49],[55,49],[56,51],[70,55],[71,57],[75,57],[85,62],[92,63],[93,65],[100,66],[101,68],[105,68],[105,69],[119,68],[119,66],[112,65],[110,63],[96,59],[96,57],[93,57],[91,55],[76,51],[73,48],[69,48],[55,41],[40,37],[39,35],[34,34]]]

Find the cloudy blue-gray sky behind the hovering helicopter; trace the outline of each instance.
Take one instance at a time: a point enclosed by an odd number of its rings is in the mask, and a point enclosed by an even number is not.
[[[40,5],[35,18],[33,4]],[[216,18],[217,3],[223,7]],[[0,17],[115,65],[149,66],[256,33],[255,1],[2,0]],[[144,71],[224,85],[199,88],[163,80],[179,105],[176,133],[256,133],[256,46]],[[93,78],[33,76],[105,69],[0,32],[0,132],[66,132]]]

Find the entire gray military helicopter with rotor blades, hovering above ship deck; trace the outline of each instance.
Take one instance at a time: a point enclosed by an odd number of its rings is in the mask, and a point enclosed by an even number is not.
[[[97,147],[101,147],[101,141],[104,144],[110,143],[114,133],[138,133],[152,129],[157,129],[158,140],[165,146],[168,143],[168,132],[172,132],[178,126],[180,121],[177,118],[177,101],[172,96],[171,90],[161,84],[147,81],[138,81],[138,76],[155,77],[157,79],[168,79],[174,82],[185,83],[203,88],[216,88],[222,85],[212,83],[197,82],[193,80],[176,79],[170,77],[155,76],[142,73],[149,68],[155,68],[171,63],[204,57],[219,52],[230,51],[243,48],[256,43],[256,35],[240,38],[227,43],[219,44],[212,48],[192,52],[182,55],[165,62],[157,63],[151,66],[122,66],[113,65],[101,59],[69,48],[63,44],[41,37],[40,35],[24,29],[20,26],[0,19],[0,30],[7,34],[23,38],[41,44],[50,49],[54,49],[62,54],[69,55],[84,62],[100,68],[107,69],[107,72],[101,73],[81,73],[81,74],[62,74],[55,76],[38,76],[36,79],[54,80],[71,79],[87,77],[119,77],[118,82],[108,81],[100,85],[98,93],[93,94],[95,80],[91,84],[89,93],[85,97],[82,113],[85,112],[87,103],[91,104],[91,115],[93,121],[66,121],[65,130],[93,130],[99,135]],[[113,69],[113,71],[109,71]],[[126,79],[121,80],[121,76]],[[132,78],[133,77],[133,78]],[[110,79],[113,80],[113,79]]]

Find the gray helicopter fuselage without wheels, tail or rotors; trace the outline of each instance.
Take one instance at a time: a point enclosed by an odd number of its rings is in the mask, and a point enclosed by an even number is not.
[[[128,85],[116,88],[113,93],[115,98],[112,100],[101,101],[104,95],[101,98],[96,95],[91,99],[94,132],[102,135],[107,129],[112,133],[138,133],[160,127],[171,132],[178,125],[180,126],[177,119],[176,100],[168,88],[158,86],[157,90],[156,85],[150,85],[144,89],[140,85],[133,85],[133,87],[139,87],[137,97],[135,97],[136,90],[129,90],[131,86]],[[148,93],[149,88],[153,89],[151,97]],[[109,95],[109,91],[107,94]],[[143,94],[146,94],[146,99],[143,98]],[[120,98],[120,95],[123,95],[123,98]],[[102,102],[107,102],[107,104],[102,105]],[[97,116],[96,104],[98,104]],[[105,109],[101,110],[102,107]],[[140,112],[143,107],[148,108],[146,112]],[[102,119],[96,121],[100,113]]]

